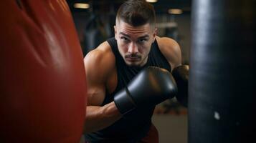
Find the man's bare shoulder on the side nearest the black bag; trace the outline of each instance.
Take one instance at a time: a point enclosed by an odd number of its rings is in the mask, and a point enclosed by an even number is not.
[[[179,44],[174,41],[174,39],[157,36],[156,40],[158,42],[160,51],[169,61],[172,69],[181,64],[181,49]]]

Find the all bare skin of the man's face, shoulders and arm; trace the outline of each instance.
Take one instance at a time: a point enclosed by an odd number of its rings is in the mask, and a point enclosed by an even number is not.
[[[173,39],[156,36],[156,29],[150,24],[131,26],[123,21],[116,22],[115,39],[118,50],[129,66],[143,66],[154,40],[172,69],[181,64],[181,49]],[[122,117],[114,102],[103,104],[105,93],[112,93],[117,87],[115,56],[107,41],[90,51],[84,59],[87,77],[87,107],[84,132],[95,132],[110,126]]]

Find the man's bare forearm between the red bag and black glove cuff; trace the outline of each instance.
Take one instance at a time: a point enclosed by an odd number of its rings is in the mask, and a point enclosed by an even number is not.
[[[122,115],[115,107],[114,102],[105,104],[103,107],[88,106],[86,108],[86,119],[84,133],[96,132],[100,129],[110,126],[118,121]]]

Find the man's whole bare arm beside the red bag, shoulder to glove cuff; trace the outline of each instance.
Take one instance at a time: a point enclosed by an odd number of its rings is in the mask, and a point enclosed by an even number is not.
[[[84,59],[87,77],[85,133],[108,127],[121,117],[114,102],[100,106],[105,98],[107,82],[115,69],[115,58],[108,46],[108,43],[104,42],[97,49],[90,51]]]

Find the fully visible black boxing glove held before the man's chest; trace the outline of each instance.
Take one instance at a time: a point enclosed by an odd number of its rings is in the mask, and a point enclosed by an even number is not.
[[[175,97],[177,87],[166,69],[149,66],[134,77],[128,86],[115,94],[115,106],[121,114],[138,107],[149,107]]]

